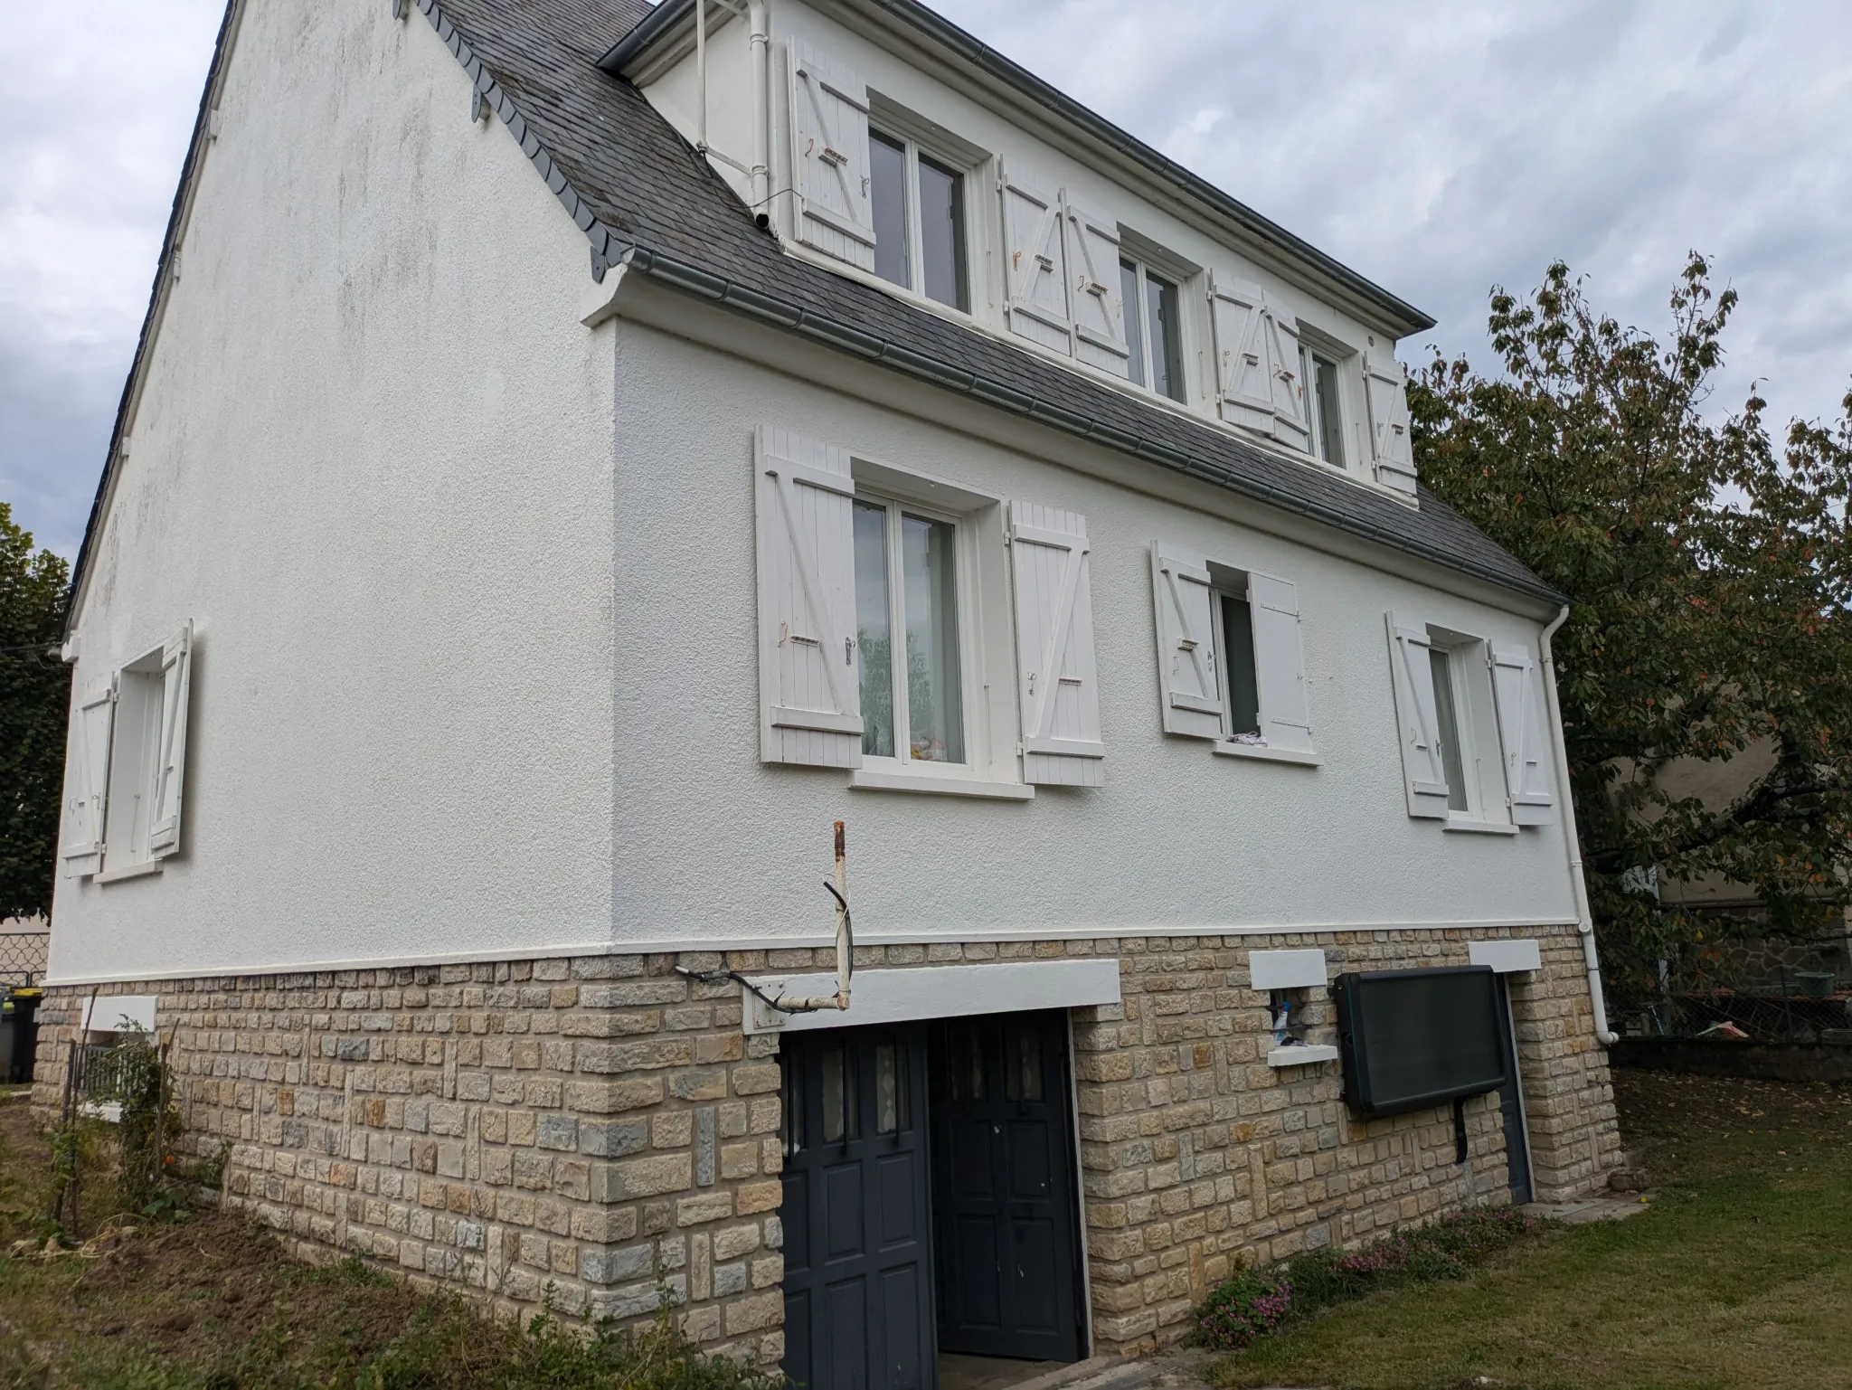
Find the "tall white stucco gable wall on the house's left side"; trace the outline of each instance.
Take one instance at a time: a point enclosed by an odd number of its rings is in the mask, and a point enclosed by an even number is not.
[[[609,335],[417,13],[243,19],[76,686],[196,625],[183,853],[61,878],[54,979],[611,929]]]

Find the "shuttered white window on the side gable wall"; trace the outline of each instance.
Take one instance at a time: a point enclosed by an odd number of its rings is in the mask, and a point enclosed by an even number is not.
[[[193,625],[78,702],[63,860],[69,877],[154,871],[180,851]]]

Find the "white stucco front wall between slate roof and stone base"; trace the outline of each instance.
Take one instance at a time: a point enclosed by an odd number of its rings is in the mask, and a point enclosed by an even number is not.
[[[715,315],[720,341],[757,337],[719,311],[700,313]],[[1056,458],[1087,454],[1106,478],[1000,447],[991,439],[1006,432],[1006,417],[809,354],[789,337],[765,345],[778,361],[839,384],[863,380],[874,398],[633,319],[596,332],[619,339],[624,382],[619,941],[824,938],[819,880],[837,817],[848,823],[857,938],[867,940],[1574,919],[1559,823],[1517,836],[1456,834],[1409,819],[1404,799],[1383,612],[1535,651],[1543,625],[1509,612],[1519,604],[1474,602],[1159,500],[1150,493],[1183,497],[1195,484],[1078,441],[1048,436],[1045,445]],[[991,439],[933,417],[963,419]],[[1032,802],[996,802],[852,791],[841,771],[759,762],[757,424],[1087,517],[1104,788],[1039,788]],[[1154,537],[1296,582],[1322,767],[1217,758],[1202,741],[1161,732]]]

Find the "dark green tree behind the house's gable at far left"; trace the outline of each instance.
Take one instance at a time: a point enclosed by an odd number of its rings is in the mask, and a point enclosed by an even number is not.
[[[0,919],[52,912],[65,788],[70,667],[63,639],[70,569],[0,502]]]

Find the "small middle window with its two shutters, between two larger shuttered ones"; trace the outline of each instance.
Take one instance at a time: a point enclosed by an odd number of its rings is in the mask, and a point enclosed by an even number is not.
[[[1178,547],[1152,547],[1167,734],[1215,752],[1315,765],[1298,589]]]

